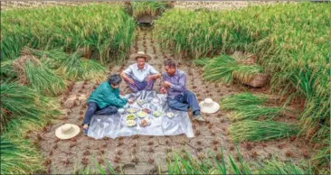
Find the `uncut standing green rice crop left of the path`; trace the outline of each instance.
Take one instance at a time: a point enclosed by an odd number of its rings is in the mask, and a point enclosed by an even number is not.
[[[47,15],[46,15],[47,14]],[[1,58],[17,58],[24,46],[84,50],[106,63],[127,57],[136,23],[119,5],[54,6],[1,12]]]

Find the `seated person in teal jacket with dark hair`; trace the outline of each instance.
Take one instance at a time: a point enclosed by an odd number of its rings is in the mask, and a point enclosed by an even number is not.
[[[101,83],[91,93],[83,121],[84,134],[88,134],[93,115],[113,115],[118,113],[118,108],[127,105],[128,99],[119,97],[121,81],[122,78],[118,74],[111,75],[108,81]]]

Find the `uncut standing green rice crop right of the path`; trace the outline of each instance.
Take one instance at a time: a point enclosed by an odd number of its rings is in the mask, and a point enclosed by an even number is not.
[[[294,89],[297,97],[306,99],[300,130],[321,148],[328,148],[328,9],[328,4],[308,2],[224,12],[173,9],[156,20],[155,35],[194,59],[219,52],[256,54],[271,75],[271,89],[281,94]],[[329,157],[330,152],[324,153]],[[328,164],[329,159],[321,161]]]

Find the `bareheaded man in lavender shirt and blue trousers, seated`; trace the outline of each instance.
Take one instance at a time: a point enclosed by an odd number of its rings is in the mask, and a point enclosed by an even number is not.
[[[165,73],[162,77],[163,85],[160,92],[167,93],[168,106],[180,111],[191,108],[194,120],[204,121],[194,93],[186,89],[186,75],[184,71],[176,69],[174,60],[165,60]]]

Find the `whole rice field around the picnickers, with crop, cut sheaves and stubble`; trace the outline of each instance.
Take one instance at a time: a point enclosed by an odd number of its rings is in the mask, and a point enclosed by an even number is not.
[[[174,5],[179,2],[1,11],[1,174],[116,174],[130,173],[130,166],[139,173],[156,167],[153,173],[160,174],[329,173],[329,3],[229,10]],[[152,27],[137,25],[143,15],[156,18]],[[109,72],[128,66],[129,54],[142,48],[160,72],[163,59],[180,58],[179,68],[193,84],[189,90],[198,99],[213,95],[221,112],[206,115],[205,124],[193,123],[195,137],[189,139],[56,139],[60,123],[81,122],[86,103],[78,99],[89,97]],[[260,81],[266,85],[252,88],[256,78],[265,78]],[[63,105],[69,95],[80,106],[76,111]],[[47,144],[52,147],[45,149]],[[76,145],[80,151],[71,151]],[[58,147],[70,149],[55,156]],[[278,159],[257,149],[283,155]]]

